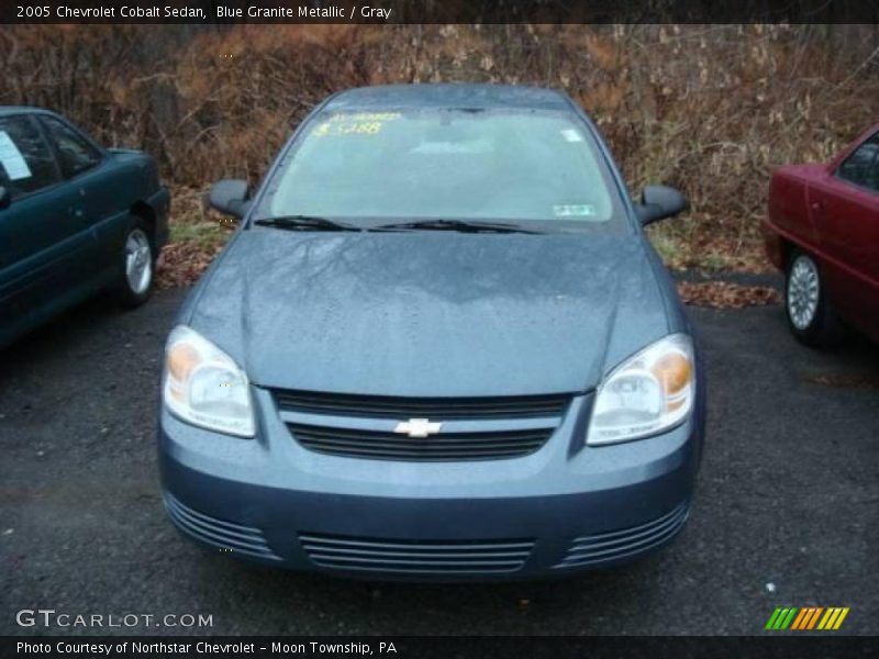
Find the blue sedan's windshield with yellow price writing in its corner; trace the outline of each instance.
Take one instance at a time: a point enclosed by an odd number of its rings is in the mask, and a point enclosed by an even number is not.
[[[289,215],[627,226],[588,127],[545,111],[323,113],[254,216]]]

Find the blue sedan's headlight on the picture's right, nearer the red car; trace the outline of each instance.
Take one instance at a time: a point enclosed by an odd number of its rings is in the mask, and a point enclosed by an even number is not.
[[[696,395],[693,344],[671,334],[623,361],[596,394],[587,444],[626,442],[667,431],[690,413]]]

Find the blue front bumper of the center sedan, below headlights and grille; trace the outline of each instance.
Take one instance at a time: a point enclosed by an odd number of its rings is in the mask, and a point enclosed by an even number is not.
[[[590,396],[536,453],[470,462],[326,456],[300,446],[255,389],[255,439],[162,412],[168,514],[226,555],[388,579],[532,579],[625,562],[687,520],[703,410],[671,432],[583,447]]]

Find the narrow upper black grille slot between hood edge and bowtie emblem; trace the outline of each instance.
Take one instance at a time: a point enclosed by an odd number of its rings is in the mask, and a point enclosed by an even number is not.
[[[522,418],[561,416],[569,394],[492,398],[398,398],[274,390],[283,412],[379,418]]]

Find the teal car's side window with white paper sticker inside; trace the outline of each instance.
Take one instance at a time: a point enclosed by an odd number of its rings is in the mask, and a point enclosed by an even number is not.
[[[0,118],[0,183],[12,199],[57,183],[52,150],[26,115]]]

